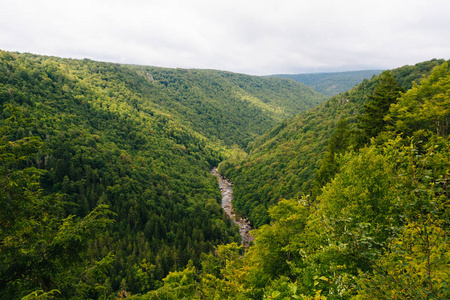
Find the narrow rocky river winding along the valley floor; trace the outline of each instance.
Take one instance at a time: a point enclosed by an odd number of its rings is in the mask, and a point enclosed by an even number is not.
[[[211,170],[211,174],[217,176],[219,181],[220,192],[222,193],[222,208],[230,219],[239,226],[239,234],[242,238],[242,245],[244,248],[247,248],[250,245],[250,242],[254,241],[254,237],[250,233],[253,228],[250,226],[250,222],[246,218],[238,217],[234,213],[234,209],[231,204],[231,200],[233,200],[233,183],[229,179],[220,175],[219,172],[217,172],[217,168],[213,168]]]

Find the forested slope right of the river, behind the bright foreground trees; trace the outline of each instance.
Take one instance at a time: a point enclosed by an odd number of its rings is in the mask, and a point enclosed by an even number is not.
[[[404,88],[412,86],[442,63],[432,60],[392,70]],[[248,158],[223,162],[219,171],[234,182],[234,205],[256,226],[269,222],[267,209],[280,198],[310,193],[314,174],[338,121],[345,118],[354,128],[377,78],[364,80],[352,90],[322,105],[283,121],[248,147]]]

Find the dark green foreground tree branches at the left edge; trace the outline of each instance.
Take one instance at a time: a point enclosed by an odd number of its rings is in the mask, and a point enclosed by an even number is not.
[[[45,171],[31,160],[45,151],[35,136],[15,140],[13,128],[32,127],[14,107],[0,127],[0,297],[47,299],[72,293],[84,281],[87,241],[111,223],[110,211],[98,205],[84,218],[64,216],[62,195],[48,194],[39,180]],[[70,270],[69,273],[67,271]]]

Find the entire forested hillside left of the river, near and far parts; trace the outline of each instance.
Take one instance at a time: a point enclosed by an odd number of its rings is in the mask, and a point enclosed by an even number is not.
[[[0,52],[0,298],[125,297],[200,266],[239,241],[210,168],[324,99],[283,79]]]

